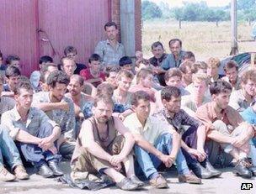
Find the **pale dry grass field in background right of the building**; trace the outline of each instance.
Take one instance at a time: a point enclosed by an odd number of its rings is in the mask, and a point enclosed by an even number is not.
[[[252,26],[238,24],[238,39],[251,39]],[[179,22],[173,20],[155,20],[143,22],[142,51],[146,57],[151,57],[151,45],[154,41],[161,41],[169,53],[168,41],[179,38],[183,41],[183,49],[195,53],[197,60],[205,60],[211,56],[223,58],[231,50],[231,23],[220,22],[216,27],[214,22]],[[216,41],[225,41],[217,43]],[[255,51],[255,42],[239,42],[240,53]]]

